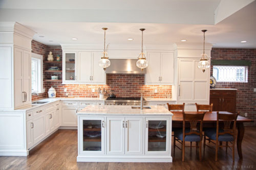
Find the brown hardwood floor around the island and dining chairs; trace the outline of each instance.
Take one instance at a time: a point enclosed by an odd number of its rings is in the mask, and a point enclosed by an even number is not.
[[[216,162],[214,147],[206,147],[205,154],[202,152],[202,161],[199,161],[195,148],[191,152],[190,148],[186,148],[185,162],[182,162],[181,151],[176,148],[173,163],[76,162],[77,131],[58,130],[31,150],[28,157],[0,157],[0,169],[254,169],[255,139],[256,127],[245,127],[243,160],[239,160],[236,150],[234,162],[231,150],[226,154],[225,149],[219,151]]]

